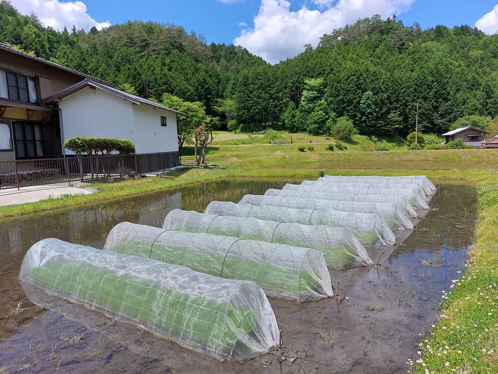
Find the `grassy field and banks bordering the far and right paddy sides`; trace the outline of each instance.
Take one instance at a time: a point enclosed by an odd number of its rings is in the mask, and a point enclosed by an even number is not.
[[[0,218],[219,178],[316,179],[322,169],[329,175],[425,175],[431,180],[472,182],[479,195],[477,243],[469,253],[467,272],[442,295],[439,321],[421,338],[420,355],[412,361],[416,368],[410,371],[498,373],[498,149],[356,152],[357,144],[348,145],[345,151],[329,151],[322,143],[324,138],[317,142],[312,139],[313,151],[306,146],[305,152],[298,150],[299,144],[222,144],[230,137],[237,143],[243,136],[215,135],[218,143],[213,142],[206,161],[218,164],[218,169],[192,169],[175,174],[174,180],[146,178],[97,184],[100,193],[1,207]],[[182,161],[193,163],[193,157]]]

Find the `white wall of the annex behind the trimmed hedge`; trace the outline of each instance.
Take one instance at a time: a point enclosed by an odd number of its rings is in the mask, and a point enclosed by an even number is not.
[[[166,109],[135,105],[90,87],[64,97],[59,108],[63,141],[76,136],[129,139],[137,154],[178,151],[176,114]],[[161,126],[161,116],[167,117],[168,126]]]

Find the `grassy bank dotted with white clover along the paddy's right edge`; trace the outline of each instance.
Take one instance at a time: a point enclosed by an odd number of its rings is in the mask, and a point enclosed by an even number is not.
[[[467,178],[478,186],[477,243],[466,271],[442,295],[438,322],[413,359],[416,373],[498,373],[497,173]]]

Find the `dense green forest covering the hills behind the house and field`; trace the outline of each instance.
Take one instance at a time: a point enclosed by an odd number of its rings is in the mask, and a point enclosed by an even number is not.
[[[373,15],[270,65],[172,23],[58,32],[3,0],[0,41],[158,102],[200,102],[230,130],[328,135],[346,117],[360,134],[405,137],[417,107],[419,130],[434,134],[498,115],[498,35],[468,25],[422,30]]]

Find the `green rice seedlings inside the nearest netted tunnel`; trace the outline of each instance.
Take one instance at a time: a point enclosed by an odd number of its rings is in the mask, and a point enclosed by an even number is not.
[[[29,270],[26,277],[48,286],[52,294],[76,297],[89,306],[95,304],[93,309],[104,308],[112,318],[117,313],[127,316],[149,331],[160,332],[183,346],[200,345],[220,358],[243,344],[243,335],[250,335],[258,326],[253,315],[257,311],[235,309],[209,297],[79,261],[45,263]]]

